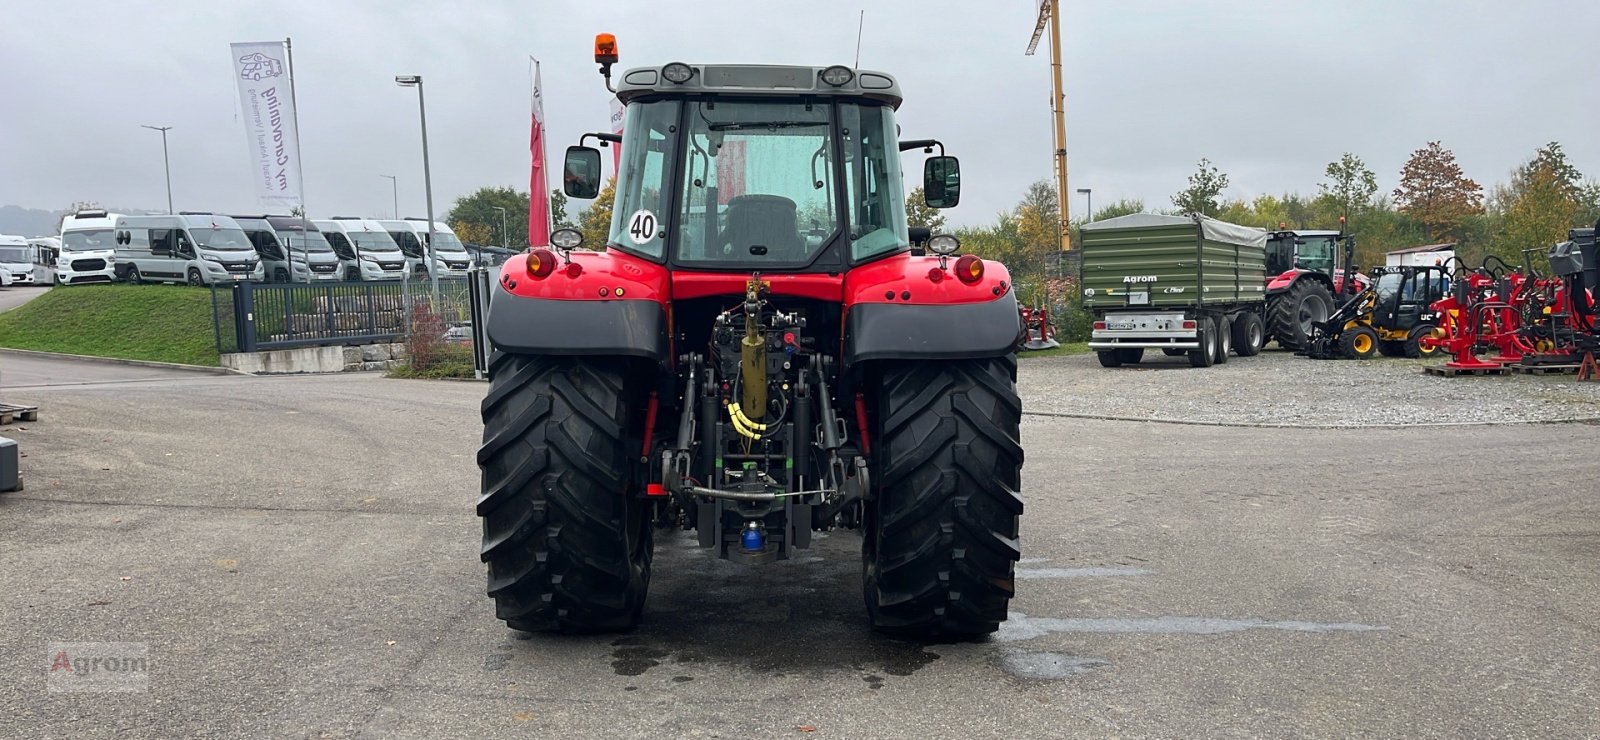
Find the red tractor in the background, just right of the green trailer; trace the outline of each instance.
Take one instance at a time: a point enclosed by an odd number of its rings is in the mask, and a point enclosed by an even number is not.
[[[1346,280],[1346,275],[1354,279]],[[1336,308],[1360,293],[1366,284],[1366,277],[1355,271],[1355,237],[1342,229],[1270,232],[1267,340],[1277,340],[1283,349],[1306,349],[1312,325],[1326,322]]]

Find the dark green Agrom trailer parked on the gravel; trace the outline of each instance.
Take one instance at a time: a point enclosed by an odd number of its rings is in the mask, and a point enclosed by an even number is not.
[[[1083,226],[1083,306],[1101,365],[1146,349],[1194,367],[1266,344],[1267,232],[1206,216],[1134,213]]]

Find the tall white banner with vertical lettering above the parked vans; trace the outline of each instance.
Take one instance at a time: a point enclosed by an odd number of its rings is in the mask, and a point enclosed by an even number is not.
[[[294,82],[283,42],[234,43],[250,179],[262,205],[301,205],[299,131],[294,128]]]

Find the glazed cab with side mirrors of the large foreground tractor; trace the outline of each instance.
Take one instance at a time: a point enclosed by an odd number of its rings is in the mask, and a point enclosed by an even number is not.
[[[608,75],[610,80],[610,75]],[[616,202],[605,247],[672,269],[832,272],[912,247],[886,74],[682,64],[622,72]],[[582,144],[582,141],[579,143]],[[595,197],[600,151],[570,147],[563,186]],[[955,157],[930,157],[928,205],[960,199]]]

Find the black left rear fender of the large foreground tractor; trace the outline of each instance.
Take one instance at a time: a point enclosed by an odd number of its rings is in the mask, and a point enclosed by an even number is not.
[[[600,354],[669,364],[667,309],[656,301],[560,301],[512,295],[499,280],[490,300],[494,349],[517,354]]]

